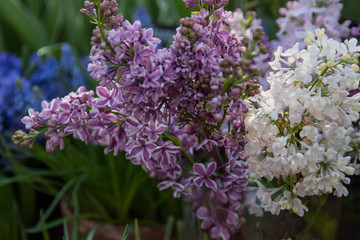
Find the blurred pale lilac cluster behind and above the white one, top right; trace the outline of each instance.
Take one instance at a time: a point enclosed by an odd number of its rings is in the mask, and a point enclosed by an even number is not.
[[[327,35],[336,40],[350,34],[350,21],[339,23],[343,5],[340,0],[298,0],[286,3],[286,8],[279,10],[283,16],[277,19],[279,42],[274,46],[282,46],[285,50],[299,42],[300,48],[305,45],[302,40],[308,31],[325,28]]]

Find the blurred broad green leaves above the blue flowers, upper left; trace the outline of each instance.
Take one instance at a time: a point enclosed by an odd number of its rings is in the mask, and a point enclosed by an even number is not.
[[[1,0],[0,50],[36,51],[57,42],[68,42],[82,55],[89,52],[91,25],[79,13],[82,1]],[[0,38],[1,39],[1,38]]]

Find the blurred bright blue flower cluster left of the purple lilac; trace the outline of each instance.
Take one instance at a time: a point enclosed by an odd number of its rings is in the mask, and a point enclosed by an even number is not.
[[[27,67],[15,54],[0,52],[0,133],[10,135],[22,128],[22,116],[30,107],[40,110],[42,100],[87,85],[87,61],[83,59],[76,58],[66,43],[58,58],[34,53]]]

